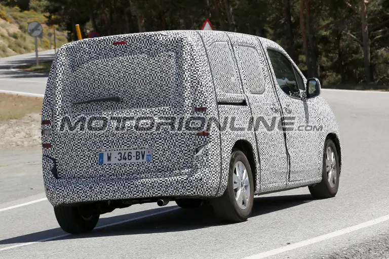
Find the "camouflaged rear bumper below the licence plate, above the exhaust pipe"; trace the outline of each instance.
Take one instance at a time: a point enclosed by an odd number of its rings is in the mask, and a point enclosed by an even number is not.
[[[48,172],[49,173],[49,172]],[[185,170],[185,176],[162,179],[55,179],[44,177],[46,196],[53,206],[76,202],[160,196],[216,194],[218,182],[209,181],[206,168]],[[45,172],[44,172],[45,176]],[[207,181],[208,179],[208,181]]]

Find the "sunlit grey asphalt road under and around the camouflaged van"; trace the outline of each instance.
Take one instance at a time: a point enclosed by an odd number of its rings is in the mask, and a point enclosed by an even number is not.
[[[31,79],[2,69],[0,78]],[[45,83],[32,85],[8,87],[43,93]],[[231,225],[209,207],[134,205],[102,215],[89,234],[65,235],[44,200],[41,150],[0,150],[0,258],[389,258],[389,94],[322,96],[342,138],[335,198],[313,200],[307,188],[258,196],[252,217]]]

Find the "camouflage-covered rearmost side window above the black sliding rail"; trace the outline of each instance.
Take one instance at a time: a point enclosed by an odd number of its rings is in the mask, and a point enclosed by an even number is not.
[[[227,42],[214,42],[208,48],[209,60],[217,92],[241,94],[237,68]]]

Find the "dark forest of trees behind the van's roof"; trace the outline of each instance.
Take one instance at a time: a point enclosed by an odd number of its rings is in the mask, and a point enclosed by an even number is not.
[[[389,0],[365,1],[369,3],[366,23],[370,70],[377,84],[389,84]],[[253,34],[278,42],[306,76],[317,75],[328,84],[359,84],[367,78],[362,0],[0,0],[0,3],[8,6],[6,11],[0,8],[0,17],[17,20],[24,33],[32,20],[68,31],[67,39],[57,35],[58,45],[77,40],[75,24],[80,24],[83,37],[87,37],[92,30],[106,36],[200,29],[205,19],[210,19],[216,30]],[[47,29],[44,31],[47,33]],[[47,44],[47,39],[43,40],[41,47],[47,48]]]

